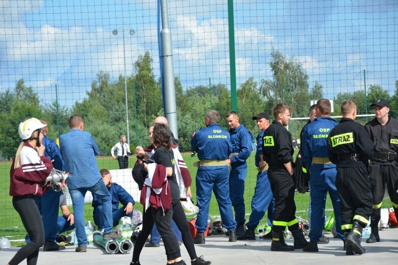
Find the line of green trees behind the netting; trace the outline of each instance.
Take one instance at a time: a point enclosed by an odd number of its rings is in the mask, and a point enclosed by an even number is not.
[[[294,117],[306,117],[310,100],[323,97],[323,86],[316,81],[313,87],[309,86],[308,75],[296,58],[287,58],[279,50],[273,49],[269,65],[273,72],[271,79],[257,82],[249,77],[236,92],[240,121],[254,134],[257,134],[257,127],[251,117],[264,111],[271,114],[275,103],[288,103]],[[49,124],[48,137],[56,139],[57,126],[60,127],[61,134],[66,133],[69,130],[68,119],[72,114],[84,117],[85,130],[93,135],[101,154],[110,155],[110,149],[119,136],[126,135],[125,78],[131,149],[134,150],[136,144],[148,145],[147,128],[156,116],[164,115],[164,112],[161,81],[156,80],[151,55],[146,51],[138,57],[134,63],[134,73],[129,76],[120,75],[118,80],[111,81],[109,73],[97,73],[87,97],[70,107],[57,108],[56,101],[42,104],[38,94],[32,87],[26,86],[23,79],[17,82],[13,91],[2,91],[0,117],[3,122],[0,128],[3,138],[0,140],[0,160],[10,160],[14,155],[19,143],[17,128],[24,118],[46,120]],[[204,126],[205,112],[210,108],[215,109],[223,118],[231,110],[231,93],[224,84],[214,84],[211,87],[200,85],[184,90],[178,76],[175,77],[174,84],[180,148],[182,151],[190,151],[191,134]],[[390,100],[391,114],[395,116],[398,111],[398,81],[392,96],[376,85],[368,86],[366,96],[364,91],[335,94],[335,112],[332,115],[339,115],[339,106],[348,99],[358,105],[358,114],[365,114],[365,101],[370,105],[379,98]],[[373,111],[369,110],[368,113]],[[227,128],[223,120],[220,124]]]

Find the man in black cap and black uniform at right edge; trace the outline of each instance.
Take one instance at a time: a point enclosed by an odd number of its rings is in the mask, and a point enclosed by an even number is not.
[[[388,195],[391,199],[395,217],[398,217],[398,120],[388,116],[390,104],[379,99],[370,105],[375,107],[376,118],[365,125],[365,129],[375,144],[375,152],[370,159],[370,186],[373,195],[373,211],[370,215],[372,234],[366,243],[380,242],[379,221],[380,210],[387,183]]]

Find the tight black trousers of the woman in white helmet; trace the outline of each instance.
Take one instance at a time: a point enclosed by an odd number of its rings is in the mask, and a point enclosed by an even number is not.
[[[31,242],[20,248],[8,263],[10,265],[19,264],[26,259],[28,265],[36,265],[39,249],[44,245],[44,228],[39,208],[36,205],[36,196],[15,196],[12,198],[12,205],[21,217]]]

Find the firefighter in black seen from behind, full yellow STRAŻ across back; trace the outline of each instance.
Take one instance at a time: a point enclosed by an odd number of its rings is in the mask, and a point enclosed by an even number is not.
[[[340,123],[328,136],[328,154],[336,164],[336,188],[340,195],[341,230],[346,236],[347,255],[363,254],[362,228],[372,213],[372,193],[367,161],[373,156],[375,145],[365,128],[354,122],[357,105],[348,100],[341,105]]]

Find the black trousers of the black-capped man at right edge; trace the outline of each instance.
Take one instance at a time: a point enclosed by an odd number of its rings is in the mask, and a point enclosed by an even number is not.
[[[384,199],[385,186],[387,184],[395,217],[398,220],[398,164],[380,165],[370,164],[370,187],[372,188],[373,210],[370,215],[370,226],[377,226],[380,221],[381,203]]]

